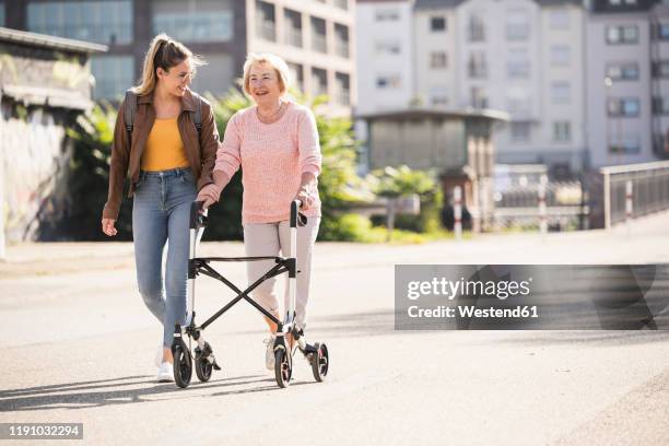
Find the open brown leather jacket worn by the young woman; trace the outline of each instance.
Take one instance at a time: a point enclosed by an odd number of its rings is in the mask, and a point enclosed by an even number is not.
[[[146,145],[149,132],[155,121],[153,95],[137,97],[137,114],[134,115],[131,144],[128,144],[124,110],[125,101],[118,108],[116,127],[114,128],[111,163],[109,164],[109,193],[103,210],[103,219],[116,220],[118,218],[127,174],[130,176],[128,197],[132,197],[134,192],[139,180],[140,160]],[[198,142],[198,130],[190,118],[191,114],[188,111],[195,111],[195,99],[190,90],[187,90],[181,97],[181,114],[177,119],[177,126],[181,141],[184,141],[186,157],[190,162],[190,168],[197,178],[198,190],[200,190],[206,185],[213,183],[212,171],[216,161],[216,149],[219,148],[219,130],[211,105],[202,99],[202,129]]]

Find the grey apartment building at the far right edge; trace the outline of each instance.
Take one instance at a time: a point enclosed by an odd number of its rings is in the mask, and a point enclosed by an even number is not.
[[[587,31],[592,164],[669,156],[669,7],[644,0],[592,1]]]

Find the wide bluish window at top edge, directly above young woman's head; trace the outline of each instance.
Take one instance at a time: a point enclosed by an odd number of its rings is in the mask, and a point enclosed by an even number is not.
[[[183,1],[153,2],[153,33],[183,42],[227,42],[233,38],[230,1],[199,1],[197,10]]]

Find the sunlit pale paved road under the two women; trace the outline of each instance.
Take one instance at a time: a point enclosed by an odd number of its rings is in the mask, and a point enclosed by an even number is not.
[[[392,272],[395,263],[669,263],[668,219],[639,220],[630,237],[620,227],[319,244],[309,337],[328,341],[330,377],[316,384],[298,362],[284,390],[263,369],[250,307],[207,330],[223,373],[177,390],[153,382],[161,329],[136,292],[131,245],[11,247],[0,263],[0,422],[83,422],[92,445],[666,445],[669,332],[398,332]],[[244,283],[240,265],[224,273]],[[231,295],[198,279],[200,314]]]

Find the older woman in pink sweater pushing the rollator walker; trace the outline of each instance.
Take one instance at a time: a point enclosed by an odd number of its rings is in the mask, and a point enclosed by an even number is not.
[[[306,226],[297,230],[297,296],[295,322],[306,326],[312,251],[320,224],[317,177],[320,173],[320,145],[312,111],[285,97],[289,69],[274,55],[249,55],[244,63],[244,91],[256,103],[237,111],[228,121],[222,145],[216,152],[214,184],[204,187],[198,200],[204,207],[219,200],[221,190],[242,166],[244,185],[242,224],[247,256],[284,255],[289,245],[290,204],[303,202]],[[272,260],[247,263],[249,283],[274,263]],[[280,318],[274,294],[275,279],[265,281],[253,297]],[[287,295],[284,297],[284,308]],[[266,319],[270,336],[266,340],[266,366],[273,369],[273,341],[277,326]]]

